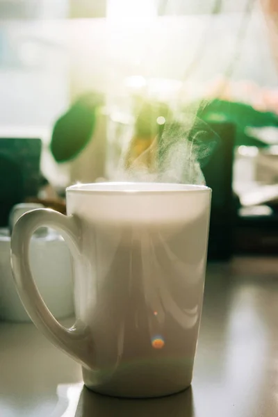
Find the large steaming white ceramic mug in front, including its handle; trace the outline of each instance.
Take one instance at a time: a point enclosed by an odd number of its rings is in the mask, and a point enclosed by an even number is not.
[[[155,397],[191,383],[202,310],[211,190],[165,183],[67,188],[67,216],[22,215],[11,256],[17,290],[35,325],[79,361],[89,389]],[[74,257],[76,324],[60,325],[31,276],[28,247],[58,229]]]

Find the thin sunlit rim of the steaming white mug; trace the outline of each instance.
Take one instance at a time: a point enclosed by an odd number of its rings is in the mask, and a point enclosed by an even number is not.
[[[136,189],[136,186],[138,187]],[[211,188],[203,185],[183,183],[155,183],[134,181],[106,181],[99,183],[76,183],[66,188],[66,193],[85,194],[177,194],[208,193]]]

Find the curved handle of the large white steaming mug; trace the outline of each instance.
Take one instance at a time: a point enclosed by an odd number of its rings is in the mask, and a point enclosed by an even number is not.
[[[49,208],[24,213],[16,222],[10,240],[10,258],[17,292],[40,332],[82,366],[92,368],[92,340],[88,327],[78,321],[70,329],[60,325],[44,304],[35,285],[29,263],[29,247],[34,231],[42,226],[59,231],[74,259],[80,256],[81,229],[77,218]]]

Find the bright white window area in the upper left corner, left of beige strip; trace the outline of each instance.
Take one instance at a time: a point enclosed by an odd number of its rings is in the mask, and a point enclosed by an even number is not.
[[[67,0],[0,1],[0,10],[0,127],[50,127],[68,102]]]

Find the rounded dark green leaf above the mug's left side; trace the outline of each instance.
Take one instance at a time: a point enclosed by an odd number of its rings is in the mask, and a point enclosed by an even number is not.
[[[58,163],[70,161],[92,138],[97,120],[97,107],[103,97],[96,93],[81,96],[54,125],[51,152]]]

